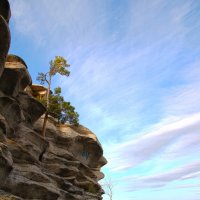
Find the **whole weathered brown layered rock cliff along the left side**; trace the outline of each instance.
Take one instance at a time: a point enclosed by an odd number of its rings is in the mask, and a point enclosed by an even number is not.
[[[106,164],[96,136],[83,126],[49,119],[24,89],[32,84],[26,63],[8,55],[10,6],[0,0],[0,199],[99,200]]]

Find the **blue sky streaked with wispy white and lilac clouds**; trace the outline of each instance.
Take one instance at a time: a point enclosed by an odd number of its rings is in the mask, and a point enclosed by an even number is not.
[[[10,3],[10,53],[34,83],[68,60],[53,88],[99,138],[113,199],[200,200],[200,1]]]

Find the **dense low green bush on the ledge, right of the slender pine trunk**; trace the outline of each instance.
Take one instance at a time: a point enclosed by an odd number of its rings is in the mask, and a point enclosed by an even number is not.
[[[66,122],[74,125],[79,124],[79,114],[70,102],[66,102],[60,95],[61,88],[55,88],[54,93],[50,95],[49,114],[58,120],[58,123],[64,124]]]

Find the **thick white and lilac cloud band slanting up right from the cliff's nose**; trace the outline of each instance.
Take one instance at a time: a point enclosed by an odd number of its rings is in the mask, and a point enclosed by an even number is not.
[[[141,133],[137,138],[129,138],[129,141],[115,144],[108,155],[108,166],[112,170],[123,170],[156,159],[157,156],[160,163],[162,160],[173,162],[186,156],[197,156],[200,152],[199,128],[200,114],[194,114],[163,124],[151,132]]]

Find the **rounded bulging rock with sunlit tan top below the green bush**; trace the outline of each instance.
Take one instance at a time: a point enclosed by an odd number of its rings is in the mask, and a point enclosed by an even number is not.
[[[60,141],[66,138],[71,140],[68,145],[68,151],[90,168],[100,168],[107,163],[102,157],[103,149],[97,137],[89,129],[84,126],[64,125],[58,127]]]

